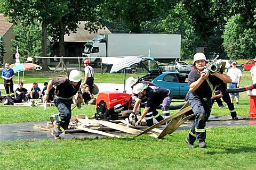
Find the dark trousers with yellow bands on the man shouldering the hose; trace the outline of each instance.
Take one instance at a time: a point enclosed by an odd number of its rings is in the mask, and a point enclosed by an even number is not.
[[[206,100],[190,94],[188,101],[192,107],[192,111],[195,114],[195,122],[189,131],[187,139],[191,143],[194,143],[195,140],[205,140],[206,121],[211,113],[212,99]]]

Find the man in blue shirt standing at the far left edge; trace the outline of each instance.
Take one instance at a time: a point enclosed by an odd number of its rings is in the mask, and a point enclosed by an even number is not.
[[[11,95],[12,97],[14,97],[13,81],[12,81],[13,77],[14,77],[14,71],[10,68],[9,63],[5,63],[5,69],[2,72],[2,78],[4,79],[4,88],[6,91],[6,95]]]

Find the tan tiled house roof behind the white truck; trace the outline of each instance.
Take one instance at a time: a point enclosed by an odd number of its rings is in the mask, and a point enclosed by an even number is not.
[[[80,21],[77,26],[76,33],[71,32],[69,36],[66,34],[64,36],[65,42],[87,42],[89,40],[92,40],[96,35],[99,34],[107,34],[111,33],[107,27],[103,27],[102,29],[99,29],[97,33],[89,33],[88,30],[84,29],[85,21]]]

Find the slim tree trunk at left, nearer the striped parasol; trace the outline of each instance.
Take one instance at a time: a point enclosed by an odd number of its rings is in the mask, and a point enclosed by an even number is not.
[[[47,44],[46,44],[46,41],[47,41],[47,24],[45,21],[42,22],[42,37],[43,37],[43,40],[42,40],[42,55],[43,57],[46,57],[47,56]],[[48,67],[48,64],[47,64],[47,58],[42,58],[42,61],[43,61],[43,71],[48,71],[49,70],[49,67]]]

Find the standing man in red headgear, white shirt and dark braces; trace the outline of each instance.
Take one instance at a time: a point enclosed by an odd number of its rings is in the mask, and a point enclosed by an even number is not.
[[[84,61],[84,84],[90,87],[90,93],[92,94],[93,82],[94,82],[94,71],[93,67],[90,66],[90,61]]]

